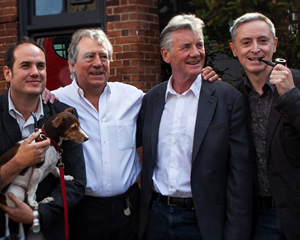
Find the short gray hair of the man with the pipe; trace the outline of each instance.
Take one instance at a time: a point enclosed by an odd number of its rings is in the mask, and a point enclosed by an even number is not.
[[[275,39],[276,31],[275,31],[275,27],[274,27],[274,24],[272,23],[272,21],[261,13],[253,12],[253,13],[246,13],[246,14],[242,15],[241,17],[237,18],[233,22],[233,26],[230,28],[231,40],[233,41],[240,25],[242,25],[243,23],[257,21],[257,20],[264,21],[265,23],[267,23],[269,25],[270,31]]]

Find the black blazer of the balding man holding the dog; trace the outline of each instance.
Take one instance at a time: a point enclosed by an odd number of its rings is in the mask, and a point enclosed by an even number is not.
[[[69,106],[55,101],[54,104],[44,105],[44,117],[38,121],[38,127],[56,113],[64,111]],[[0,155],[21,139],[21,132],[17,121],[8,112],[8,91],[0,95]],[[76,113],[77,114],[77,113]],[[74,177],[73,181],[66,182],[68,209],[84,196],[86,175],[82,145],[71,141],[62,144],[62,161],[65,167],[65,175]],[[1,185],[1,182],[0,182]],[[39,204],[41,226],[44,236],[49,240],[65,239],[64,234],[64,209],[59,179],[49,174],[40,184],[37,190],[37,201],[45,197],[53,197],[54,201],[47,204]],[[4,214],[0,209],[0,237],[4,236]],[[16,224],[10,224],[13,231]],[[27,226],[29,227],[29,226]]]

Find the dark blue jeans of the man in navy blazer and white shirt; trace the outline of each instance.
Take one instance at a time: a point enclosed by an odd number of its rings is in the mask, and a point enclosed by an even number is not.
[[[154,200],[149,212],[147,240],[202,240],[193,208],[170,207]]]

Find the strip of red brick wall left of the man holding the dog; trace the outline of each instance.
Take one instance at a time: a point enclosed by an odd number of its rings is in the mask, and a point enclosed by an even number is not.
[[[17,41],[17,0],[0,0],[0,93],[7,89],[3,77],[4,52]]]

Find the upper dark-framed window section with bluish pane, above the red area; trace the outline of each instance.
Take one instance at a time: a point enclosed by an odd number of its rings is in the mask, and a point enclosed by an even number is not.
[[[103,0],[24,0],[18,1],[18,4],[20,36],[82,27],[106,30]]]

